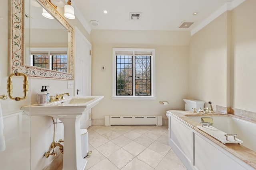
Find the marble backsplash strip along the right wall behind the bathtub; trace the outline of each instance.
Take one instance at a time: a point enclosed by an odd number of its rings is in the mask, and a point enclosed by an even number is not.
[[[256,113],[253,111],[247,111],[242,109],[236,109],[233,107],[224,107],[224,106],[218,106],[218,105],[216,106],[216,110],[222,113],[238,115],[246,119],[252,119],[256,121]]]

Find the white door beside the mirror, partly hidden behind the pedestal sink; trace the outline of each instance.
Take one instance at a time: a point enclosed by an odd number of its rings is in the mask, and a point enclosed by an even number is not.
[[[74,94],[75,96],[91,96],[92,57],[90,51],[92,45],[77,27],[75,27],[74,37],[74,58],[76,60],[74,65]],[[91,109],[82,115],[80,125],[84,129],[91,125]]]

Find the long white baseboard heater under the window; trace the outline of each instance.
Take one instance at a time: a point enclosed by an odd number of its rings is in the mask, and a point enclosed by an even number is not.
[[[107,115],[105,126],[111,125],[157,125],[162,126],[162,115]]]

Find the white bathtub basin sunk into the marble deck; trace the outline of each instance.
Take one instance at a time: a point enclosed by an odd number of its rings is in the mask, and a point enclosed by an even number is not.
[[[201,117],[211,117],[213,127],[228,133],[238,134],[236,137],[243,141],[241,145],[256,152],[256,123],[245,121],[230,115],[186,115],[198,123],[201,122]]]

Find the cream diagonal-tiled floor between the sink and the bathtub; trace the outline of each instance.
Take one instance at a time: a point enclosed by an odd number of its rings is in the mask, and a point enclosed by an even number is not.
[[[86,170],[186,170],[167,126],[91,126]]]

